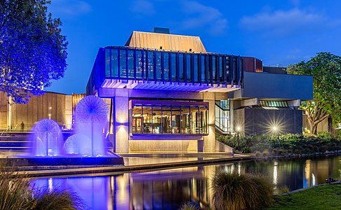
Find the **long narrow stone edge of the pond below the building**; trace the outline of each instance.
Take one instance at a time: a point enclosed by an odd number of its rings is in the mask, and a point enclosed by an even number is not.
[[[20,171],[15,172],[18,176],[45,177],[45,176],[76,176],[76,175],[91,175],[91,174],[123,174],[130,172],[151,172],[163,169],[175,169],[182,167],[195,167],[200,165],[211,165],[215,163],[228,163],[241,160],[252,160],[252,156],[234,156],[233,158],[215,158],[210,160],[194,160],[182,162],[164,162],[149,165],[132,165],[132,166],[105,166],[105,167],[87,167],[74,169],[49,169],[36,171]]]

